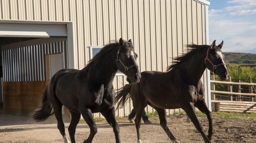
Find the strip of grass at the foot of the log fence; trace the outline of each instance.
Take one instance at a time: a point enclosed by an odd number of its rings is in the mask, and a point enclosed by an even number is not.
[[[256,113],[240,113],[240,112],[212,112],[213,116],[224,118],[236,118],[236,119],[254,119],[256,120]]]

